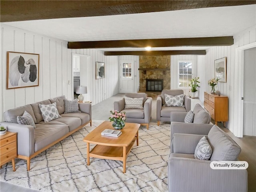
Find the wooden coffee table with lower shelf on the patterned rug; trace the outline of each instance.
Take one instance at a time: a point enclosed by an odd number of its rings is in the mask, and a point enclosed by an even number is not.
[[[87,165],[90,165],[90,157],[119,160],[123,161],[123,172],[125,173],[126,158],[134,142],[137,141],[137,146],[139,145],[139,127],[140,124],[137,123],[125,123],[119,137],[103,136],[101,135],[103,130],[114,129],[112,122],[104,121],[83,140],[87,142]],[[90,143],[96,144],[92,150],[90,150]]]

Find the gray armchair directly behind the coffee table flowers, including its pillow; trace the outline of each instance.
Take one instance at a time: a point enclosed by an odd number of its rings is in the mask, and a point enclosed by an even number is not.
[[[124,98],[114,102],[114,110],[125,112],[126,122],[139,123],[148,129],[152,115],[152,98],[147,97],[146,93],[126,93]]]

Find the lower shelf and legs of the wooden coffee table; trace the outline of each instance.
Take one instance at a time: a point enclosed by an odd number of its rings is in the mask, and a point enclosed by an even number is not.
[[[120,160],[123,161],[123,172],[126,172],[126,158],[130,153],[134,142],[138,140],[137,136],[134,137],[132,142],[128,146],[105,146],[97,144],[90,150],[90,143],[87,142],[87,165],[90,165],[90,157],[110,159],[110,160]]]

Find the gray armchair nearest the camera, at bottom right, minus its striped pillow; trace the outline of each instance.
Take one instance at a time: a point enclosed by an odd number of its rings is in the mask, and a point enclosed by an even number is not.
[[[194,158],[194,152],[203,135],[174,134],[174,153],[168,159],[169,192],[246,192],[247,170],[212,169],[212,161],[237,160],[241,148],[218,126],[208,133],[212,148],[210,160]]]

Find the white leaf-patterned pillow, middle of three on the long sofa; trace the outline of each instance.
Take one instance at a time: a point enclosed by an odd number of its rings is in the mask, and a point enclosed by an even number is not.
[[[56,102],[49,105],[39,104],[40,111],[42,113],[44,122],[49,122],[54,119],[60,118],[60,114],[56,107]]]

